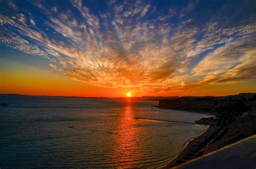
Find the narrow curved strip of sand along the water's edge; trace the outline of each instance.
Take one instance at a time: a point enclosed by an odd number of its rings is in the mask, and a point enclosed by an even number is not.
[[[207,131],[211,128],[211,125],[208,125],[208,128],[204,131],[202,131],[201,133],[199,133],[199,135],[191,138],[190,140],[188,140],[185,144],[185,146],[181,149],[181,151],[179,153],[176,154],[175,157],[173,157],[171,160],[169,160],[169,162],[163,166],[162,168],[170,168],[170,165],[172,165],[173,163],[175,163],[178,159],[180,159],[181,157],[184,156],[184,154],[188,151],[188,149],[191,147],[192,144],[194,144],[196,142],[196,140],[200,137],[203,137]]]

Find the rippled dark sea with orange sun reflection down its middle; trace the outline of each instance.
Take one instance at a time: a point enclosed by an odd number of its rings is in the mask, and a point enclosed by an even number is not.
[[[154,101],[3,96],[0,167],[160,167],[211,115],[152,108]],[[73,126],[69,128],[68,126]]]

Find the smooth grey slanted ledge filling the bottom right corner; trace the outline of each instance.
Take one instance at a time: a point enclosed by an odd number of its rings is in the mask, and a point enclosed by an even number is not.
[[[190,160],[176,168],[216,169],[216,168],[255,168],[256,135],[247,137],[234,144],[225,146],[197,159]]]

